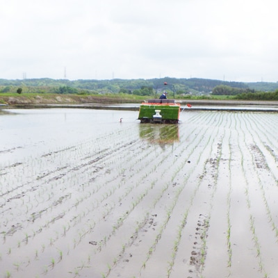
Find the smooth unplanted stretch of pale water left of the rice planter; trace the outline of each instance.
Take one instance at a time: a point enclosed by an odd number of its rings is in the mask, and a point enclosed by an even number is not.
[[[0,162],[68,147],[101,133],[138,124],[131,111],[86,109],[10,109],[0,115]]]

